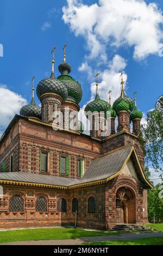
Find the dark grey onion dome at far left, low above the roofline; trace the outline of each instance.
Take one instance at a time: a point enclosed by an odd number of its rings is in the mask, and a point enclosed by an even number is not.
[[[21,108],[20,115],[41,119],[41,107],[36,105],[33,98],[29,105],[25,105]]]

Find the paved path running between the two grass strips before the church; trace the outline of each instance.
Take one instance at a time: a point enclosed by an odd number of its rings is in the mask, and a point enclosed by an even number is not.
[[[107,240],[133,240],[148,237],[163,237],[163,232],[158,233],[123,233],[120,235],[105,235],[105,236],[89,236],[80,237],[79,239],[66,240],[41,240],[41,241],[24,241],[24,242],[10,242],[1,245],[82,245],[87,242],[100,242]]]

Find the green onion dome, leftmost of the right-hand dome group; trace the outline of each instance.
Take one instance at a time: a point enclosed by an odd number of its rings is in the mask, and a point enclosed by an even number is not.
[[[105,101],[101,100],[99,95],[96,95],[95,100],[89,102],[85,107],[85,112],[107,112],[110,109],[110,104]]]

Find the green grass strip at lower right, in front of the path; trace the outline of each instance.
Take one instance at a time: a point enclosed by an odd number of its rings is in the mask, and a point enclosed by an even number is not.
[[[163,237],[150,237],[136,240],[104,241],[84,243],[84,245],[163,245]]]

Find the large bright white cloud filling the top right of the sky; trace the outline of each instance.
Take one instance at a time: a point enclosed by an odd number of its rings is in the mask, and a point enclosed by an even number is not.
[[[89,58],[101,57],[106,62],[106,47],[134,47],[135,59],[158,54],[162,48],[161,10],[144,0],[99,0],[86,5],[67,0],[62,19],[76,36],[86,40]]]

